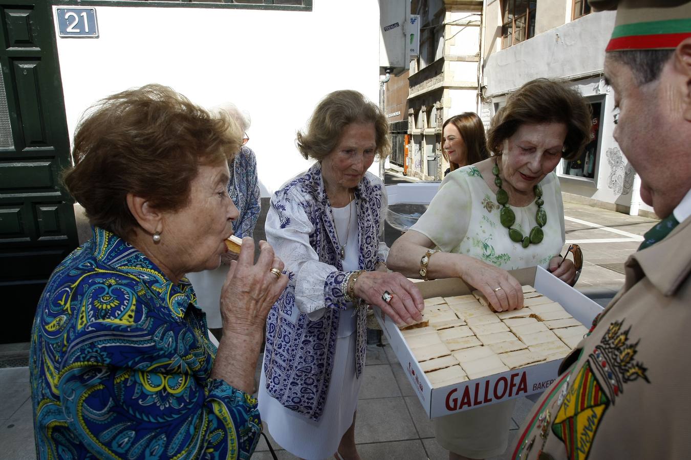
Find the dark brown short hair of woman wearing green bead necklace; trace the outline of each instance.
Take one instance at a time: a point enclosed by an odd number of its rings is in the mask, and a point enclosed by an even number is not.
[[[580,93],[558,81],[536,79],[509,95],[507,105],[492,119],[487,148],[501,153],[502,143],[523,124],[564,123],[567,127],[562,158],[576,159],[590,141],[592,115]]]

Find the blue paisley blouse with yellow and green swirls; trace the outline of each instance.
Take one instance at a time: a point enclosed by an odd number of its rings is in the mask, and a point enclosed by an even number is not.
[[[173,284],[94,228],[50,276],[32,330],[39,459],[249,459],[256,399],[211,379],[216,347],[187,279]]]

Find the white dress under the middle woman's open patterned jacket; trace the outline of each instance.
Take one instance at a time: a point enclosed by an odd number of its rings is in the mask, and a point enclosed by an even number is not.
[[[345,243],[343,270],[358,270],[357,208],[351,201],[345,208],[332,208],[334,226],[339,239]],[[348,217],[350,214],[350,217]],[[350,222],[350,229],[348,229]],[[300,299],[296,297],[296,302]],[[266,391],[266,377],[262,366],[257,399],[259,414],[265,428],[279,446],[305,460],[318,460],[332,457],[337,451],[341,437],[352,425],[352,417],[357,409],[357,397],[362,379],[355,378],[355,339],[356,317],[354,309],[341,310],[339,331],[334,352],[334,367],[331,383],[321,419],[316,422],[293,410],[285,408]],[[312,319],[321,312],[310,313]]]

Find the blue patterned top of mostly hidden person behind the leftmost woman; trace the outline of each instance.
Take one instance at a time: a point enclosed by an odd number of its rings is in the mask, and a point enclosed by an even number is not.
[[[257,160],[251,148],[243,146],[230,165],[228,194],[235,203],[240,216],[233,221],[236,237],[252,237],[254,226],[259,219],[259,181],[257,180]]]

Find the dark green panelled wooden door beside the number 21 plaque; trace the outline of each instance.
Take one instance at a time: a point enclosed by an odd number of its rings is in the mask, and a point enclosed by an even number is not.
[[[0,0],[0,66],[0,343],[14,343],[30,339],[50,272],[77,246],[50,2]]]

